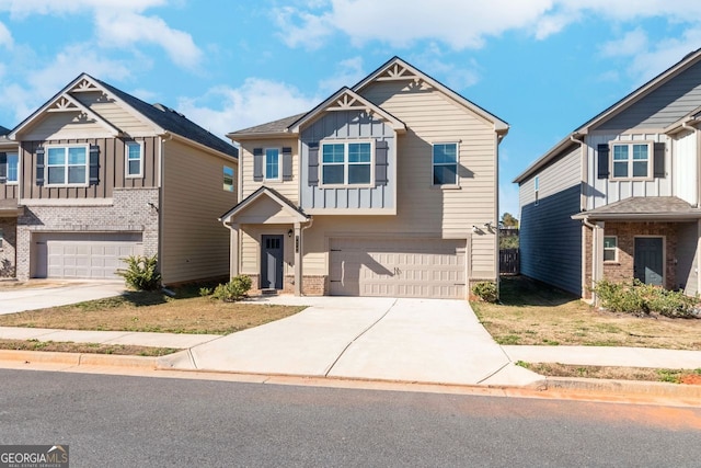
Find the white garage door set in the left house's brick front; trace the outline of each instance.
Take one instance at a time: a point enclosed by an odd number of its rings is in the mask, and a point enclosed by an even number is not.
[[[142,253],[141,233],[51,232],[36,237],[34,276],[115,279],[122,259]]]

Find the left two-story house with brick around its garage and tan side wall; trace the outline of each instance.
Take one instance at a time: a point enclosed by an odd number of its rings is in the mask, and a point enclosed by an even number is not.
[[[115,278],[141,253],[164,284],[228,274],[238,151],[182,114],[82,73],[2,145],[4,276]]]

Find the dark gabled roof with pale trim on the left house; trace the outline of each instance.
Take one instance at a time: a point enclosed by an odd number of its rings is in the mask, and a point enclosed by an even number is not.
[[[153,126],[154,133],[159,135],[170,133],[230,157],[238,157],[238,150],[235,147],[202,128],[199,125],[186,118],[183,114],[160,104],[148,104],[131,94],[91,77],[88,73],[81,73],[78,76],[78,78],[48,100],[42,107],[25,118],[11,132],[11,138],[14,138],[19,132],[31,126],[37,118],[47,112],[83,112],[105,126],[113,135],[122,134],[119,128],[105,121],[102,116],[92,112],[71,96],[71,92],[79,91],[102,91],[111,95],[115,101],[122,103],[125,109],[131,111],[137,118]]]

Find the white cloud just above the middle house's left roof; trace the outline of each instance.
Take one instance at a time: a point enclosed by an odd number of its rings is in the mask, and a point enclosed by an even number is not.
[[[209,105],[217,102],[217,105]],[[278,81],[249,78],[240,88],[217,87],[200,98],[182,98],[177,111],[215,135],[223,136],[311,110],[318,98]]]

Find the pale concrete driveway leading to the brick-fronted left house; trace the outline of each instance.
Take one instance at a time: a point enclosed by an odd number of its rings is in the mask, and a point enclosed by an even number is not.
[[[123,281],[36,282],[0,289],[0,315],[103,299],[124,293]]]

